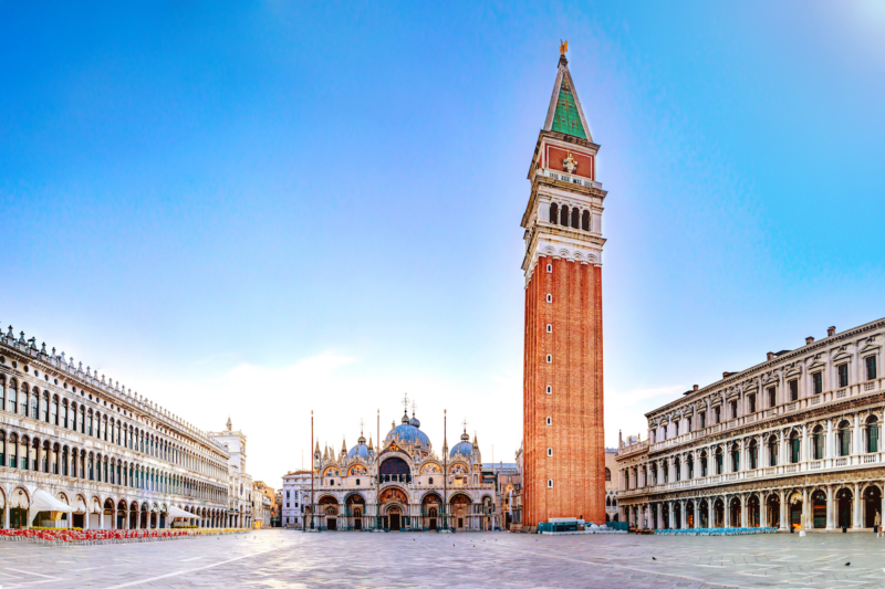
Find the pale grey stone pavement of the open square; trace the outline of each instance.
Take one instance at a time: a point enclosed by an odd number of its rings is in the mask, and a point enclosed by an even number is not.
[[[117,546],[0,541],[0,587],[31,586],[885,587],[885,539],[268,529]]]

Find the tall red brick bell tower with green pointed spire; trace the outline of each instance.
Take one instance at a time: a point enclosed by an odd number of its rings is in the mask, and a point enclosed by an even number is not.
[[[525,229],[523,525],[605,522],[602,211],[596,152],[568,44],[534,147]]]

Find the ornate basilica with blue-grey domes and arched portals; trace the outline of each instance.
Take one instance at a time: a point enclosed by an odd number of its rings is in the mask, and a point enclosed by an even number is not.
[[[298,506],[284,508],[285,526],[389,532],[500,526],[497,485],[483,476],[476,435],[470,440],[465,430],[451,449],[444,440],[437,454],[414,411],[392,423],[377,446],[362,432],[355,445],[342,443],[339,452],[317,443],[313,466],[312,481],[310,473],[283,477],[283,501]]]

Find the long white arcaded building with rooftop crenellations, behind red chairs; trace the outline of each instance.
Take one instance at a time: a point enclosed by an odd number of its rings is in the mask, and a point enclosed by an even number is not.
[[[0,335],[3,527],[228,527],[228,452],[168,409],[34,338]],[[73,506],[33,513],[38,490]]]

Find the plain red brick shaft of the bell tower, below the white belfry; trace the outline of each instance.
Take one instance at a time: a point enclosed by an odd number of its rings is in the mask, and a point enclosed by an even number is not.
[[[553,272],[546,265],[553,264]],[[546,302],[548,293],[553,302]],[[553,333],[546,333],[552,324]],[[605,522],[602,269],[541,257],[525,288],[523,524]],[[553,362],[546,362],[546,355]],[[546,386],[553,393],[546,395]],[[546,425],[546,418],[553,424]],[[546,449],[553,448],[548,457]],[[553,478],[553,488],[546,487]]]

